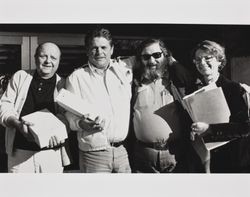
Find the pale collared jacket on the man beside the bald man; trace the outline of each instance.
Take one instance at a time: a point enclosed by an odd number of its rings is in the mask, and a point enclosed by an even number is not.
[[[128,134],[132,72],[124,62],[111,61],[103,71],[88,64],[74,71],[66,81],[66,89],[95,106],[105,120],[103,131],[91,133],[78,126],[79,117],[67,112],[72,130],[78,132],[83,151],[101,150],[110,142],[123,141]]]

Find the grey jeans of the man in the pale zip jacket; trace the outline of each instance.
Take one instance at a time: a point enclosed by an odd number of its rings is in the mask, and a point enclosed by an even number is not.
[[[123,145],[101,151],[79,151],[79,166],[83,173],[130,173],[127,150]]]

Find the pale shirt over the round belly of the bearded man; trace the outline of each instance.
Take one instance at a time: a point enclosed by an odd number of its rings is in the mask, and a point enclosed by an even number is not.
[[[175,108],[175,99],[172,95],[175,87],[172,82],[169,87],[163,84],[162,79],[157,79],[150,84],[143,84],[137,90],[133,124],[138,140],[164,141],[169,138],[173,128],[176,131],[180,129],[180,116]]]

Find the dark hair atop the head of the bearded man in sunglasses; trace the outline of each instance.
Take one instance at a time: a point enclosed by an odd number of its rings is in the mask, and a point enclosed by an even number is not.
[[[171,51],[166,47],[166,45],[164,44],[164,42],[161,40],[161,39],[157,39],[157,38],[150,38],[150,39],[146,39],[146,40],[143,40],[139,46],[137,47],[137,50],[136,50],[136,57],[138,60],[140,60],[141,58],[141,53],[142,51],[144,50],[145,47],[149,46],[149,45],[152,45],[154,43],[158,43],[164,56],[166,57],[170,57],[172,56],[172,53]]]

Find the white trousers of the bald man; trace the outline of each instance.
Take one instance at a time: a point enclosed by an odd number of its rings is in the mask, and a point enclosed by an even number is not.
[[[62,173],[60,149],[29,151],[15,149],[8,155],[8,171],[10,173]]]

